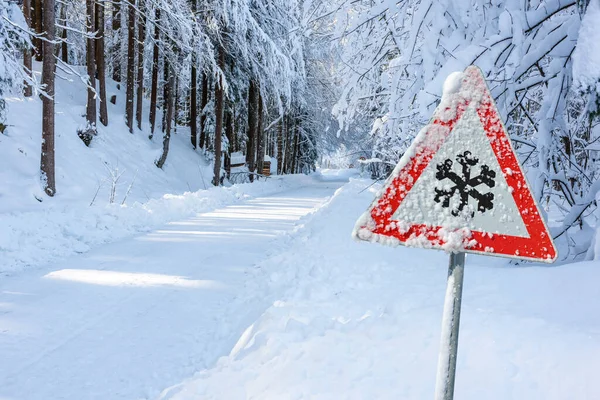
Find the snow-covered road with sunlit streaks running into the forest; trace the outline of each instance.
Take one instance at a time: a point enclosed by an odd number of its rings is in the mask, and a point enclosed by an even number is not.
[[[245,279],[340,182],[258,198],[0,283],[0,399],[140,399],[210,367],[270,305]]]

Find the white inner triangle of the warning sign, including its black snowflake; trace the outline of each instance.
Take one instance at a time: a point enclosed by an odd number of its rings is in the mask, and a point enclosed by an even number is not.
[[[392,219],[529,237],[475,107],[463,113]]]

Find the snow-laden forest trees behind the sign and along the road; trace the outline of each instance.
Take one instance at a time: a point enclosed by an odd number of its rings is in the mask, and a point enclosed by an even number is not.
[[[161,168],[183,127],[190,146],[214,160],[215,185],[230,178],[232,154],[250,180],[265,155],[284,174],[309,172],[321,156],[348,165],[359,155],[381,178],[430,117],[446,76],[474,64],[538,201],[560,214],[555,236],[576,256],[589,242],[566,236],[587,227],[600,189],[599,8],[587,0],[4,0],[0,118],[10,113],[7,97],[40,97],[48,196],[61,189],[57,79],[87,85],[72,132],[86,146],[98,126],[125,125],[162,140]],[[117,89],[110,96],[107,83]]]

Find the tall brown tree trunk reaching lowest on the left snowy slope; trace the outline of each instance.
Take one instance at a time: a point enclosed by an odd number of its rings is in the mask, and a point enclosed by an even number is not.
[[[39,0],[41,1],[41,0]],[[42,96],[42,155],[40,171],[44,192],[48,196],[56,193],[54,175],[54,0],[44,0],[44,30],[47,39],[43,46],[42,85],[46,93]]]

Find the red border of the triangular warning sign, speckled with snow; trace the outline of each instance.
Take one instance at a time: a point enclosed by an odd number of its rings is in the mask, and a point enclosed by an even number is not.
[[[499,117],[498,110],[481,70],[475,66],[468,67],[464,72],[463,84],[468,80],[474,80],[471,82],[471,85],[474,84],[473,86],[475,87],[484,88],[483,93],[480,93],[477,114],[501,167],[501,172],[506,179],[506,183],[512,189],[513,199],[521,218],[523,218],[523,223],[529,233],[529,237],[472,231],[469,237],[470,244],[464,250],[461,249],[461,251],[553,262],[557,258],[556,248],[554,247],[548,228],[540,215],[537,202],[531,194],[526,177],[517,160],[511,141],[506,133],[502,119]],[[434,112],[432,121],[425,127],[425,138],[416,144],[416,155],[400,171],[394,171],[395,176],[391,178],[391,181],[387,181],[382,195],[373,202],[370,211],[368,211],[375,223],[374,227],[371,229],[367,226],[362,226],[361,230],[368,230],[376,236],[375,238],[378,236],[393,237],[402,244],[405,244],[406,241],[414,237],[425,237],[432,248],[443,247],[445,242],[438,235],[440,230],[442,230],[441,226],[415,224],[402,232],[397,229],[389,229],[388,227],[390,223],[394,222],[392,215],[421,176],[421,173],[429,165],[435,153],[440,149],[448,136],[450,136],[454,125],[469,106],[468,99],[459,98],[458,101],[457,112],[453,119],[443,120],[439,118],[439,109]],[[436,127],[449,129],[440,130],[435,129]],[[436,140],[428,141],[428,137],[431,137],[433,130],[435,130]],[[443,140],[438,139],[441,131],[446,132]],[[420,146],[424,143],[427,145]]]

